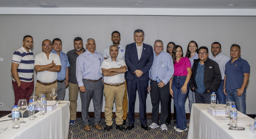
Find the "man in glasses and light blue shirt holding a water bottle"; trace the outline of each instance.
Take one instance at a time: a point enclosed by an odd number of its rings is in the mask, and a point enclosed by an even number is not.
[[[161,40],[154,43],[154,60],[149,70],[150,83],[148,92],[150,91],[152,103],[152,121],[149,126],[152,129],[159,127],[159,102],[161,101],[161,129],[167,130],[166,119],[168,117],[168,101],[170,86],[169,81],[174,73],[172,57],[169,53],[164,52],[164,44]],[[156,77],[161,81],[156,82]]]

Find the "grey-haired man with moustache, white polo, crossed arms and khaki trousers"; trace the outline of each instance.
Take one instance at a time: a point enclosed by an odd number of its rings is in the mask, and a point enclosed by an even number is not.
[[[117,58],[118,46],[111,45],[109,47],[111,58],[102,62],[100,72],[104,75],[104,95],[105,95],[105,122],[104,131],[107,132],[113,128],[112,124],[112,108],[114,101],[116,102],[116,129],[125,131],[123,125],[123,100],[124,100],[124,73],[127,67],[124,59]]]

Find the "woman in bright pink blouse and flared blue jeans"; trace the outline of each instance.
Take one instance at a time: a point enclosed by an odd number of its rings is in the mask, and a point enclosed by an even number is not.
[[[174,73],[170,80],[170,94],[173,96],[176,107],[176,126],[177,132],[188,130],[185,100],[189,92],[189,80],[192,74],[191,63],[187,57],[183,57],[183,50],[180,45],[175,45],[172,49],[172,60]]]

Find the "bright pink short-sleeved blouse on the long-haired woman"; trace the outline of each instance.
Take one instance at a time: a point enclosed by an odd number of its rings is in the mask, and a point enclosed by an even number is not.
[[[187,57],[183,57],[177,61],[175,60],[174,66],[174,73],[173,76],[187,76],[188,71],[187,68],[191,67],[191,63]]]

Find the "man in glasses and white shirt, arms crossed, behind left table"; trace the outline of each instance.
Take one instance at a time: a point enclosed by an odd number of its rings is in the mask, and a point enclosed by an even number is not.
[[[52,53],[52,42],[49,39],[42,42],[42,49],[43,52],[35,56],[34,66],[37,71],[35,96],[44,94],[47,100],[52,100],[52,88],[58,88],[57,72],[61,69],[61,62],[59,55]]]

